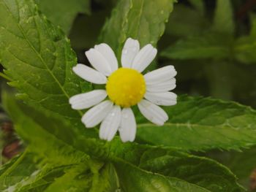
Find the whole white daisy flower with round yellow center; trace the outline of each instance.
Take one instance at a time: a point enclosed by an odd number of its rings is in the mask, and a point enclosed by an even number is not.
[[[152,123],[162,126],[168,119],[158,105],[176,104],[177,96],[170,92],[176,88],[176,70],[173,66],[164,66],[144,75],[141,73],[156,55],[157,49],[152,45],[140,49],[138,40],[129,38],[121,53],[121,68],[113,50],[105,43],[86,51],[94,69],[83,64],[73,67],[75,74],[84,80],[106,84],[105,90],[81,93],[69,99],[74,110],[92,107],[83,115],[82,122],[87,128],[101,123],[100,139],[110,141],[119,131],[123,142],[133,142],[136,121],[131,107],[136,104]]]

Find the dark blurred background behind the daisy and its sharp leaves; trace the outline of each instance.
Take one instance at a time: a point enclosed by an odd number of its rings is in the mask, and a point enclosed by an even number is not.
[[[84,52],[99,42],[100,31],[117,2],[91,0],[87,8],[81,7],[80,13],[74,13],[74,19],[67,23],[49,18],[66,29],[79,63],[89,64]],[[211,96],[256,108],[256,0],[231,2],[226,4],[225,15],[216,18],[217,1],[179,0],[159,40],[156,62],[158,66],[176,67],[178,95]],[[47,16],[51,7],[45,6],[43,0],[37,3]],[[7,80],[1,77],[0,91],[8,88],[6,84]],[[22,144],[1,109],[0,124],[0,163],[4,164],[22,150]],[[256,191],[256,147],[243,153],[214,150],[200,155],[227,165],[241,178],[242,185]]]

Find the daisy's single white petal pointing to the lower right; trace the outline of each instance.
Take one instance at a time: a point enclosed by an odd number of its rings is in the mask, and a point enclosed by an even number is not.
[[[140,103],[138,103],[138,107],[146,119],[157,124],[158,126],[162,126],[165,121],[168,120],[168,115],[166,112],[162,110],[161,107],[152,104],[149,101],[143,99],[140,101]]]

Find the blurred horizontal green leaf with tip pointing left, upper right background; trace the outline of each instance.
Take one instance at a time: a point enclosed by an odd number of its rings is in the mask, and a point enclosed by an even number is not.
[[[189,37],[170,45],[161,55],[173,59],[228,58],[230,55],[228,39],[208,34],[202,37]]]

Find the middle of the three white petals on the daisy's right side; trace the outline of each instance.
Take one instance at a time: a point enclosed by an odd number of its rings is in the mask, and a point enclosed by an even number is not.
[[[146,90],[149,92],[166,92],[176,88],[176,79],[170,79],[165,82],[159,82],[152,85],[146,85]]]

